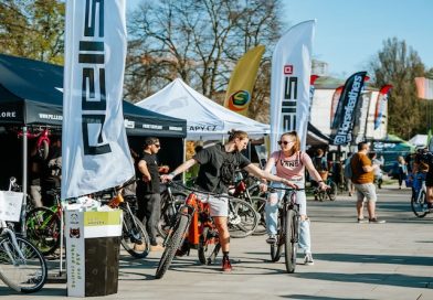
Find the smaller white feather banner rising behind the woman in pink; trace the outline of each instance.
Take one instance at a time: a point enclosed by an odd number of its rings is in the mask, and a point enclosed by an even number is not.
[[[296,130],[305,150],[309,118],[309,79],[316,20],[291,28],[272,56],[271,152],[283,132]]]

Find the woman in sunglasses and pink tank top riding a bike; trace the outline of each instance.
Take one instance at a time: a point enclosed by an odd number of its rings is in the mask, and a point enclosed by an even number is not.
[[[273,168],[276,169],[276,174],[281,178],[287,179],[291,183],[296,184],[299,189],[305,188],[305,168],[307,168],[309,175],[319,184],[319,189],[325,190],[327,185],[320,178],[320,174],[315,169],[310,157],[306,152],[300,151],[300,141],[296,131],[283,133],[278,144],[279,151],[275,151],[267,160],[265,172],[271,172]],[[266,183],[266,180],[263,180]],[[273,186],[284,186],[273,183]],[[263,185],[266,190],[266,185]],[[266,202],[266,228],[270,237],[266,243],[276,243],[277,219],[278,219],[278,200],[284,195],[284,191],[277,190],[276,193],[271,193]],[[299,204],[300,214],[300,232],[299,232],[299,248],[305,251],[305,265],[313,265],[311,242],[309,234],[309,219],[307,216],[307,197],[305,191],[296,193],[296,202]]]

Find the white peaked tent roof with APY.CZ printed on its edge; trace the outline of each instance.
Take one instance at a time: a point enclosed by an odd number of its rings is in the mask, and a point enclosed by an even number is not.
[[[187,138],[221,139],[229,130],[243,130],[257,137],[270,133],[270,126],[241,116],[204,97],[177,78],[136,105],[187,120]]]

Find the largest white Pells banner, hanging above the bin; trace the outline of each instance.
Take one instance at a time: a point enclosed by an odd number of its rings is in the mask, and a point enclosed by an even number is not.
[[[125,0],[66,1],[62,200],[134,175],[124,127]]]

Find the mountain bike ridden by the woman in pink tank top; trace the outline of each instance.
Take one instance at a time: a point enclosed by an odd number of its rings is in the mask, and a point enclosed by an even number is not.
[[[271,188],[270,193],[275,190],[285,191],[283,199],[278,202],[278,229],[276,243],[271,245],[271,259],[276,262],[283,254],[287,272],[292,274],[296,268],[296,255],[299,240],[299,205],[296,204],[296,192],[304,189]]]

